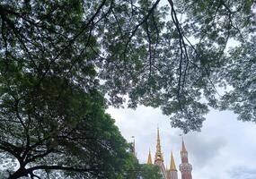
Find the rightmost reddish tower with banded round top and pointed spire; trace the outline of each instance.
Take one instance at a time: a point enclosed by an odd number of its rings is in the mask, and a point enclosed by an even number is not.
[[[182,145],[181,145],[180,171],[181,171],[181,179],[192,179],[192,175],[191,175],[192,165],[189,163],[188,151],[185,147],[185,143],[183,139],[182,139]]]

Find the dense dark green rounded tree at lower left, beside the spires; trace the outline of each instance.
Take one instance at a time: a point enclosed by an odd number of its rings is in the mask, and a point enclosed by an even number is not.
[[[57,77],[34,87],[34,77],[9,67],[18,79],[2,78],[0,155],[5,177],[116,178],[136,164],[114,120],[105,114],[100,93],[84,93]]]

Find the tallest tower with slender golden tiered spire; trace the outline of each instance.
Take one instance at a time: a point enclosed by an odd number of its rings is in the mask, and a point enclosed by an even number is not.
[[[154,165],[160,167],[160,171],[163,175],[163,178],[167,178],[165,167],[163,164],[163,153],[161,151],[161,144],[160,144],[160,134],[159,134],[159,128],[157,127],[157,140],[156,140],[156,151],[154,156]]]

